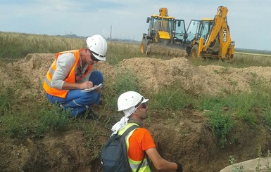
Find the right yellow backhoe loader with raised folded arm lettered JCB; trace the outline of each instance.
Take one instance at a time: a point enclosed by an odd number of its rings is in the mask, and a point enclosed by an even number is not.
[[[219,6],[215,18],[191,20],[185,42],[191,58],[232,60],[235,42],[230,37],[227,12],[227,7]]]

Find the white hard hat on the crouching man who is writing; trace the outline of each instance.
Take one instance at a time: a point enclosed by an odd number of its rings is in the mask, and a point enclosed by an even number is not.
[[[94,57],[101,61],[106,61],[107,42],[101,35],[95,34],[87,38],[87,48]]]

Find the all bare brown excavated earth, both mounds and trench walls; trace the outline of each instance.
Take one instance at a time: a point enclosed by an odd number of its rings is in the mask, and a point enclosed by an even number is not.
[[[45,99],[41,84],[53,58],[51,53],[34,53],[16,62],[0,62],[0,81],[6,88],[20,85],[21,102],[27,103],[30,95]],[[187,58],[132,58],[123,60],[118,67],[99,62],[96,69],[103,72],[105,86],[111,86],[120,72],[132,70],[146,91],[158,91],[161,86],[177,83],[179,88],[195,95],[249,91],[255,77],[271,81],[271,67],[195,67]],[[145,127],[153,134],[158,152],[170,161],[182,161],[184,171],[220,171],[229,165],[231,155],[241,162],[257,158],[259,145],[263,152],[270,149],[271,132],[260,119],[253,128],[237,124],[231,133],[235,141],[221,148],[203,112],[187,108],[180,112],[149,110],[149,113],[151,120],[146,121]],[[101,121],[85,122],[95,123],[96,132],[107,135],[111,132]],[[102,145],[106,134],[98,136],[97,145]],[[0,136],[0,171],[101,171],[99,154],[94,151],[101,147],[89,149],[87,142],[76,129],[50,132],[42,138]]]

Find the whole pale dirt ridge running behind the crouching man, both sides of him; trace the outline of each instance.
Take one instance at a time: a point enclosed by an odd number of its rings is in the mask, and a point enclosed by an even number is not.
[[[39,86],[44,81],[53,59],[54,54],[51,53],[34,53],[28,54],[25,59],[18,62],[1,64],[0,79],[4,81],[4,86],[12,86],[18,83],[18,79],[20,81],[23,78],[29,79],[32,85]],[[152,91],[178,82],[182,84],[180,88],[198,94],[230,93],[249,90],[253,79],[263,78],[267,82],[271,81],[271,67],[242,69],[215,65],[195,67],[187,58],[170,60],[131,58],[120,62],[119,67],[114,67],[108,62],[99,62],[96,69],[103,72],[106,82],[112,81],[119,71],[132,70],[139,76],[144,86]]]

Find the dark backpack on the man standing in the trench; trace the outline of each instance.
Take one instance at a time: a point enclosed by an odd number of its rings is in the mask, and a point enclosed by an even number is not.
[[[130,164],[128,161],[127,147],[125,143],[125,136],[135,128],[137,125],[130,126],[122,134],[114,134],[107,140],[101,149],[101,169],[103,172],[131,172]],[[137,168],[141,167],[143,159]]]

